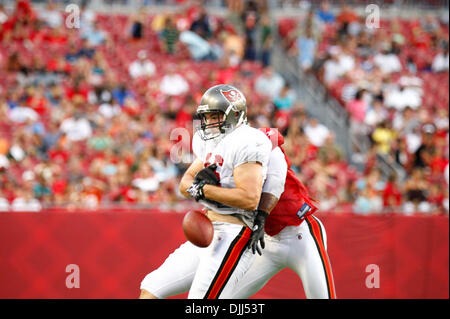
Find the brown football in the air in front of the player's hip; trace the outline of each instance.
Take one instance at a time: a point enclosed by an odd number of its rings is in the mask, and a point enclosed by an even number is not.
[[[189,211],[183,218],[183,232],[186,239],[198,247],[208,247],[214,235],[214,228],[205,214]]]

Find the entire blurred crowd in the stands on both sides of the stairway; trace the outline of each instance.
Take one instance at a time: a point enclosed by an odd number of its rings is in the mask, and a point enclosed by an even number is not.
[[[79,27],[52,3],[42,10],[23,0],[13,11],[0,5],[0,211],[186,209],[192,201],[178,193],[178,182],[192,159],[196,106],[210,86],[229,83],[246,95],[253,126],[285,135],[292,168],[322,210],[448,213],[448,98],[443,107],[398,106],[406,98],[386,93],[416,92],[414,81],[425,72],[446,74],[448,93],[448,26],[418,24],[421,39],[429,34],[429,49],[442,57],[426,66],[412,59],[414,73],[400,61],[408,73],[398,82],[392,73],[400,71],[385,70],[391,62],[383,58],[410,46],[405,36],[398,45],[401,32],[366,34],[345,6],[335,16],[325,5],[280,32],[286,52],[330,92],[345,80],[340,99],[352,130],[373,144],[358,172],[271,67],[281,25],[267,7],[227,5],[225,18],[201,1],[160,14],[143,8],[101,15],[81,6]],[[406,181],[385,180],[374,165],[377,153],[403,166]]]

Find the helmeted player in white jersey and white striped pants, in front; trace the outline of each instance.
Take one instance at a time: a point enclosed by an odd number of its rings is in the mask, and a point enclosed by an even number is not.
[[[165,298],[189,290],[188,298],[232,298],[253,263],[252,236],[270,140],[247,124],[242,92],[230,85],[208,89],[197,108],[200,129],[193,138],[196,160],[180,182],[180,192],[207,208],[214,237],[206,248],[182,244],[141,283],[140,298]],[[176,289],[174,289],[176,287]]]

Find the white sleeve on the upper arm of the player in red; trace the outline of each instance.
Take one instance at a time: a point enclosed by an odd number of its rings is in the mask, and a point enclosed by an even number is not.
[[[269,193],[280,198],[284,192],[286,182],[287,163],[283,152],[279,147],[274,148],[270,153],[269,164],[267,167],[267,177],[263,185],[263,193]]]

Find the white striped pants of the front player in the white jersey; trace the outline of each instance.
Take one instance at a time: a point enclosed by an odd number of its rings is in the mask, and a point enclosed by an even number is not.
[[[246,245],[251,230],[242,225],[213,222],[214,237],[206,248],[187,241],[141,282],[158,298],[189,290],[189,299],[229,299],[255,259]]]

